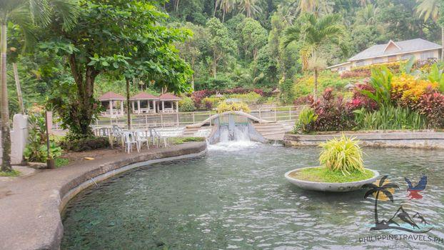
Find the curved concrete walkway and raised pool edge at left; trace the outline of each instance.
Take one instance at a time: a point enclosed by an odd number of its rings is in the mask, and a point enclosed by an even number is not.
[[[61,212],[76,194],[123,171],[206,154],[191,142],[141,154],[116,154],[60,169],[44,170],[0,185],[0,249],[60,249]]]

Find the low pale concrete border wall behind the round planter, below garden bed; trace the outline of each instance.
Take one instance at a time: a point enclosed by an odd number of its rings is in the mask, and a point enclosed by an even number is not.
[[[313,135],[286,133],[283,141],[286,146],[317,146],[343,134],[355,137],[363,146],[444,149],[444,132],[434,130],[334,131]]]

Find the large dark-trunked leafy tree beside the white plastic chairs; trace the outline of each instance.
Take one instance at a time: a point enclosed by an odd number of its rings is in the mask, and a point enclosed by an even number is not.
[[[51,27],[51,41],[44,49],[66,56],[75,81],[76,95],[69,103],[63,96],[51,102],[70,130],[70,138],[92,136],[90,124],[97,112],[94,83],[99,74],[121,74],[130,79],[140,72],[156,86],[186,92],[188,64],[172,46],[188,36],[161,25],[168,16],[146,1],[82,0],[76,29],[66,33]],[[143,56],[142,56],[143,55]]]

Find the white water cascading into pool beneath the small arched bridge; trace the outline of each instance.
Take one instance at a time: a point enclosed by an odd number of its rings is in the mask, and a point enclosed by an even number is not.
[[[235,126],[233,134],[230,134],[227,126],[221,126],[219,129],[221,129],[219,143],[208,145],[208,150],[238,151],[260,145],[260,143],[250,140],[248,126]]]

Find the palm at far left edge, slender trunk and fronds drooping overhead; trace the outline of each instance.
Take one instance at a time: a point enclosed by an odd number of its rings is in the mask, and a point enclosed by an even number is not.
[[[54,14],[62,20],[63,29],[69,31],[76,24],[79,6],[76,0],[3,0],[0,1],[0,86],[1,86],[1,171],[11,171],[11,137],[9,134],[8,89],[6,86],[7,24],[20,26],[24,34],[24,48],[34,41],[35,25],[47,26]]]

